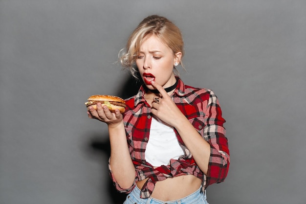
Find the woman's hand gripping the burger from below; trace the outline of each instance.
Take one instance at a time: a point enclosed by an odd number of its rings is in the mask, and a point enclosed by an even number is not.
[[[88,107],[87,111],[89,118],[94,118],[105,122],[108,126],[115,127],[122,123],[123,116],[118,109],[115,110],[115,113],[111,113],[107,106],[102,106],[101,103],[97,103],[97,110],[92,106]]]

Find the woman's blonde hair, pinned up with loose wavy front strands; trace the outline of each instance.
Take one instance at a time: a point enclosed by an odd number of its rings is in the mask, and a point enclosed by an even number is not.
[[[165,17],[153,15],[148,16],[132,32],[126,48],[119,52],[119,60],[123,68],[128,68],[133,77],[137,78],[135,60],[143,40],[151,36],[159,38],[165,45],[170,47],[173,53],[181,52],[184,56],[184,42],[179,28]],[[182,63],[180,62],[182,65]],[[174,68],[175,75],[179,75]]]

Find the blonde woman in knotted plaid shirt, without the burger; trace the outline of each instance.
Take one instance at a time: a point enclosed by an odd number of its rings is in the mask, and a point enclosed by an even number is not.
[[[125,204],[207,204],[205,189],[224,181],[229,150],[213,91],[184,85],[175,66],[184,55],[180,30],[160,16],[131,34],[121,63],[144,85],[126,112],[97,105],[88,116],[108,124],[109,170]],[[136,65],[137,68],[134,68]]]

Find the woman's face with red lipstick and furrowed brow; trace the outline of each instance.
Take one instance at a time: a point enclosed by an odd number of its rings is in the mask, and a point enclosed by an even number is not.
[[[136,65],[142,80],[149,89],[154,89],[151,85],[153,80],[167,88],[175,84],[173,68],[175,62],[180,62],[180,58],[181,52],[174,54],[170,47],[151,36],[140,45]]]

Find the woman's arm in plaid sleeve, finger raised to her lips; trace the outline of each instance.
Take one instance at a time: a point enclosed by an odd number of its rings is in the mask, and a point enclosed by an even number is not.
[[[223,181],[229,167],[229,153],[217,97],[212,93],[214,97],[201,104],[205,112],[205,128],[201,136],[166,91],[156,83],[153,85],[163,98],[158,104],[153,103],[152,113],[177,130],[198,167],[207,175],[206,185]]]

